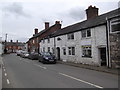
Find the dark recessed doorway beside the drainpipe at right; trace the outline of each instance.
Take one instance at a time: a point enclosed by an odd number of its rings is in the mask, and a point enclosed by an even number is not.
[[[106,48],[100,48],[101,66],[107,66]]]

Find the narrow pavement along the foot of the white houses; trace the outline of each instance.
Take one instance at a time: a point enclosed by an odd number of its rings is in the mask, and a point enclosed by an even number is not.
[[[70,65],[70,66],[75,66],[75,67],[80,67],[80,68],[85,68],[85,69],[90,69],[90,70],[95,70],[95,71],[100,71],[100,72],[105,72],[120,76],[120,69],[108,68],[106,66],[93,66],[93,65],[86,65],[86,64],[73,63],[73,62],[64,62],[61,60],[57,62],[65,65]]]

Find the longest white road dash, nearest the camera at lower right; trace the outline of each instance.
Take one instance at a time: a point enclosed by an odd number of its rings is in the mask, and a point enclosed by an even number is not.
[[[78,79],[78,78],[69,76],[69,75],[64,74],[64,73],[59,73],[59,74],[60,74],[60,75],[63,75],[63,76],[66,76],[66,77],[69,77],[69,78],[71,78],[71,79],[77,80],[77,81],[79,81],[79,82],[83,82],[83,83],[89,84],[89,85],[94,86],[94,87],[97,87],[97,88],[101,88],[101,89],[103,88],[103,87],[101,87],[101,86],[99,86],[99,85],[96,85],[96,84],[93,84],[93,83],[90,83],[90,82],[87,82],[87,81],[84,81],[84,80],[81,80],[81,79]]]

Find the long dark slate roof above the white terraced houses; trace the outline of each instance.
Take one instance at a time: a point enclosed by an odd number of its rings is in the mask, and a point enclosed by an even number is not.
[[[95,26],[104,25],[104,24],[106,24],[106,18],[115,16],[119,12],[120,12],[120,8],[110,11],[105,14],[99,15],[93,19],[88,19],[88,20],[67,26],[67,27],[62,28],[62,29],[58,30],[57,32],[53,33],[52,36],[55,37],[55,36],[64,35],[67,33],[77,32],[77,31],[84,30],[87,28],[92,28]]]

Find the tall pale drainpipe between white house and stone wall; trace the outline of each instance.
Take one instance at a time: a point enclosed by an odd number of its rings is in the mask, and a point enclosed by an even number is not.
[[[107,25],[106,25],[106,40],[107,40],[107,66],[108,68],[111,68],[111,59],[110,59],[110,22],[108,18],[106,17]]]

